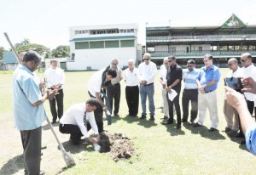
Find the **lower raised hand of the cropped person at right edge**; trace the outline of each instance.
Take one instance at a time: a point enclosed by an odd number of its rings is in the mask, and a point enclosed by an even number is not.
[[[247,109],[247,103],[241,93],[237,93],[234,89],[229,87],[224,87],[226,91],[227,102],[234,108],[243,106]]]

